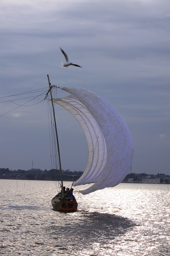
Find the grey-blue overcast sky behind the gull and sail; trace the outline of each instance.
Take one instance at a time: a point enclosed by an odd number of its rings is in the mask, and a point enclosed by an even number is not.
[[[95,92],[128,125],[132,171],[170,175],[169,0],[1,0],[0,19],[1,97],[48,88],[47,74],[51,84]],[[62,67],[59,47],[83,68]],[[4,102],[17,98],[0,99],[0,168],[28,170],[33,159],[50,170],[47,101]],[[56,109],[62,169],[84,171],[84,133]]]

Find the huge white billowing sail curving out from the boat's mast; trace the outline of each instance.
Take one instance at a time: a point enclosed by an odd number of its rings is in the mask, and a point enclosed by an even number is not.
[[[94,183],[81,191],[88,194],[118,185],[133,161],[133,141],[119,113],[106,100],[83,88],[63,87],[71,95],[53,100],[80,123],[88,143],[88,164],[74,183]]]

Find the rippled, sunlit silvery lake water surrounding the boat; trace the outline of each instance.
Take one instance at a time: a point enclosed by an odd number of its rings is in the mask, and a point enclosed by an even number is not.
[[[1,179],[0,190],[0,255],[170,255],[170,185],[74,193],[73,213],[52,209],[54,181]]]

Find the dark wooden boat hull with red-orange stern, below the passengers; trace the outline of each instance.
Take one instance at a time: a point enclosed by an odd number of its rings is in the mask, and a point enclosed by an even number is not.
[[[51,200],[52,207],[55,211],[59,212],[76,212],[78,203],[76,201],[55,200],[55,197]]]

